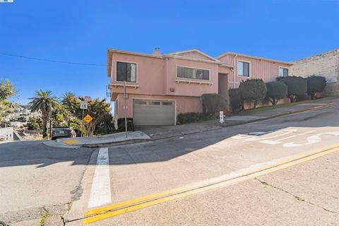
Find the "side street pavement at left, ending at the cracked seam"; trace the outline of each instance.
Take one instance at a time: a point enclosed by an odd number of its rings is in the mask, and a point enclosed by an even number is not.
[[[53,148],[42,141],[0,144],[0,220],[59,214],[81,196],[92,149]]]

